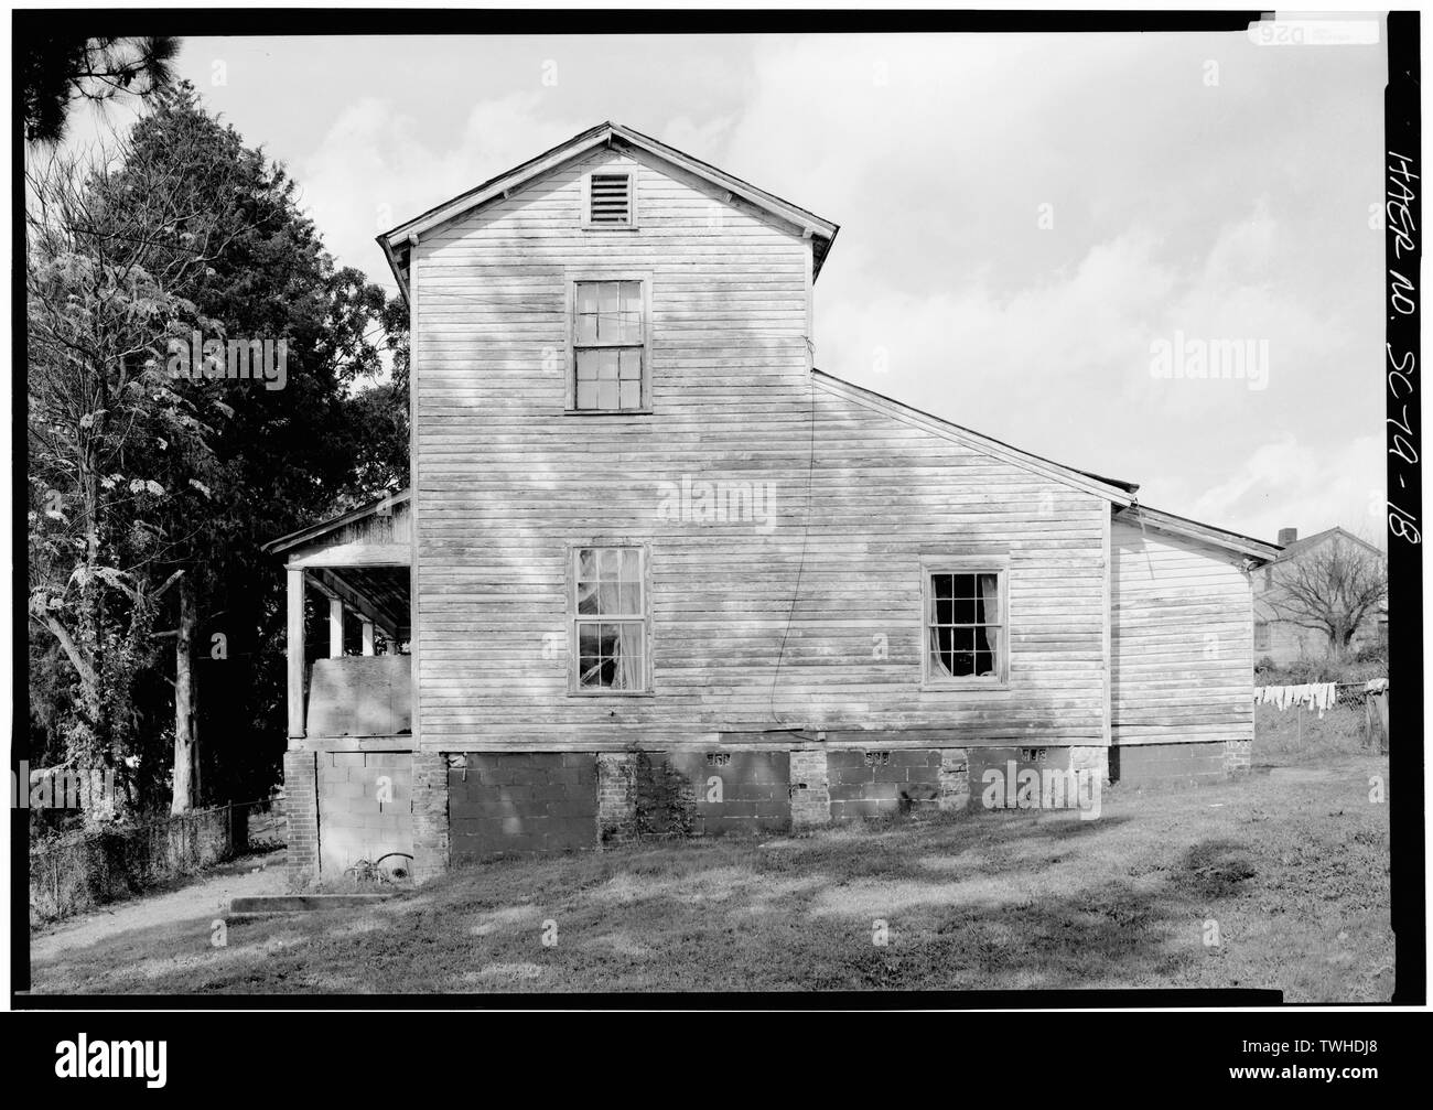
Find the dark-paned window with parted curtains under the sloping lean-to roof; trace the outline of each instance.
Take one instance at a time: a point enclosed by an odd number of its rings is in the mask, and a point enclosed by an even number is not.
[[[1003,686],[1009,657],[1006,569],[931,563],[923,569],[923,593],[924,686]]]

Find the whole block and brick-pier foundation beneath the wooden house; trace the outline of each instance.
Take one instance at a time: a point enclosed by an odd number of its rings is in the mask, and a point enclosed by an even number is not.
[[[1128,748],[626,752],[288,752],[289,869],[341,872],[384,851],[417,879],[454,862],[641,839],[805,832],[982,808],[986,773],[1092,772],[1189,783],[1247,771],[1248,742]],[[388,781],[383,799],[380,778]]]

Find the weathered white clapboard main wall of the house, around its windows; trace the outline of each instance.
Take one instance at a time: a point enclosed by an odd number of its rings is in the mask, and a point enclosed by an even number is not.
[[[813,380],[798,229],[643,162],[641,228],[583,231],[608,160],[633,163],[605,150],[414,252],[421,746],[1103,743],[1106,501]],[[566,282],[603,269],[652,275],[651,415],[563,415]],[[661,518],[685,478],[774,504]],[[603,541],[649,544],[652,696],[567,693],[566,549]],[[1009,559],[1009,689],[920,690],[921,554]]]

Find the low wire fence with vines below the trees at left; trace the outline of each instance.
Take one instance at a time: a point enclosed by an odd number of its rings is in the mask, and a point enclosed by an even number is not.
[[[30,920],[54,921],[239,855],[282,848],[284,806],[277,802],[232,802],[32,849]]]

